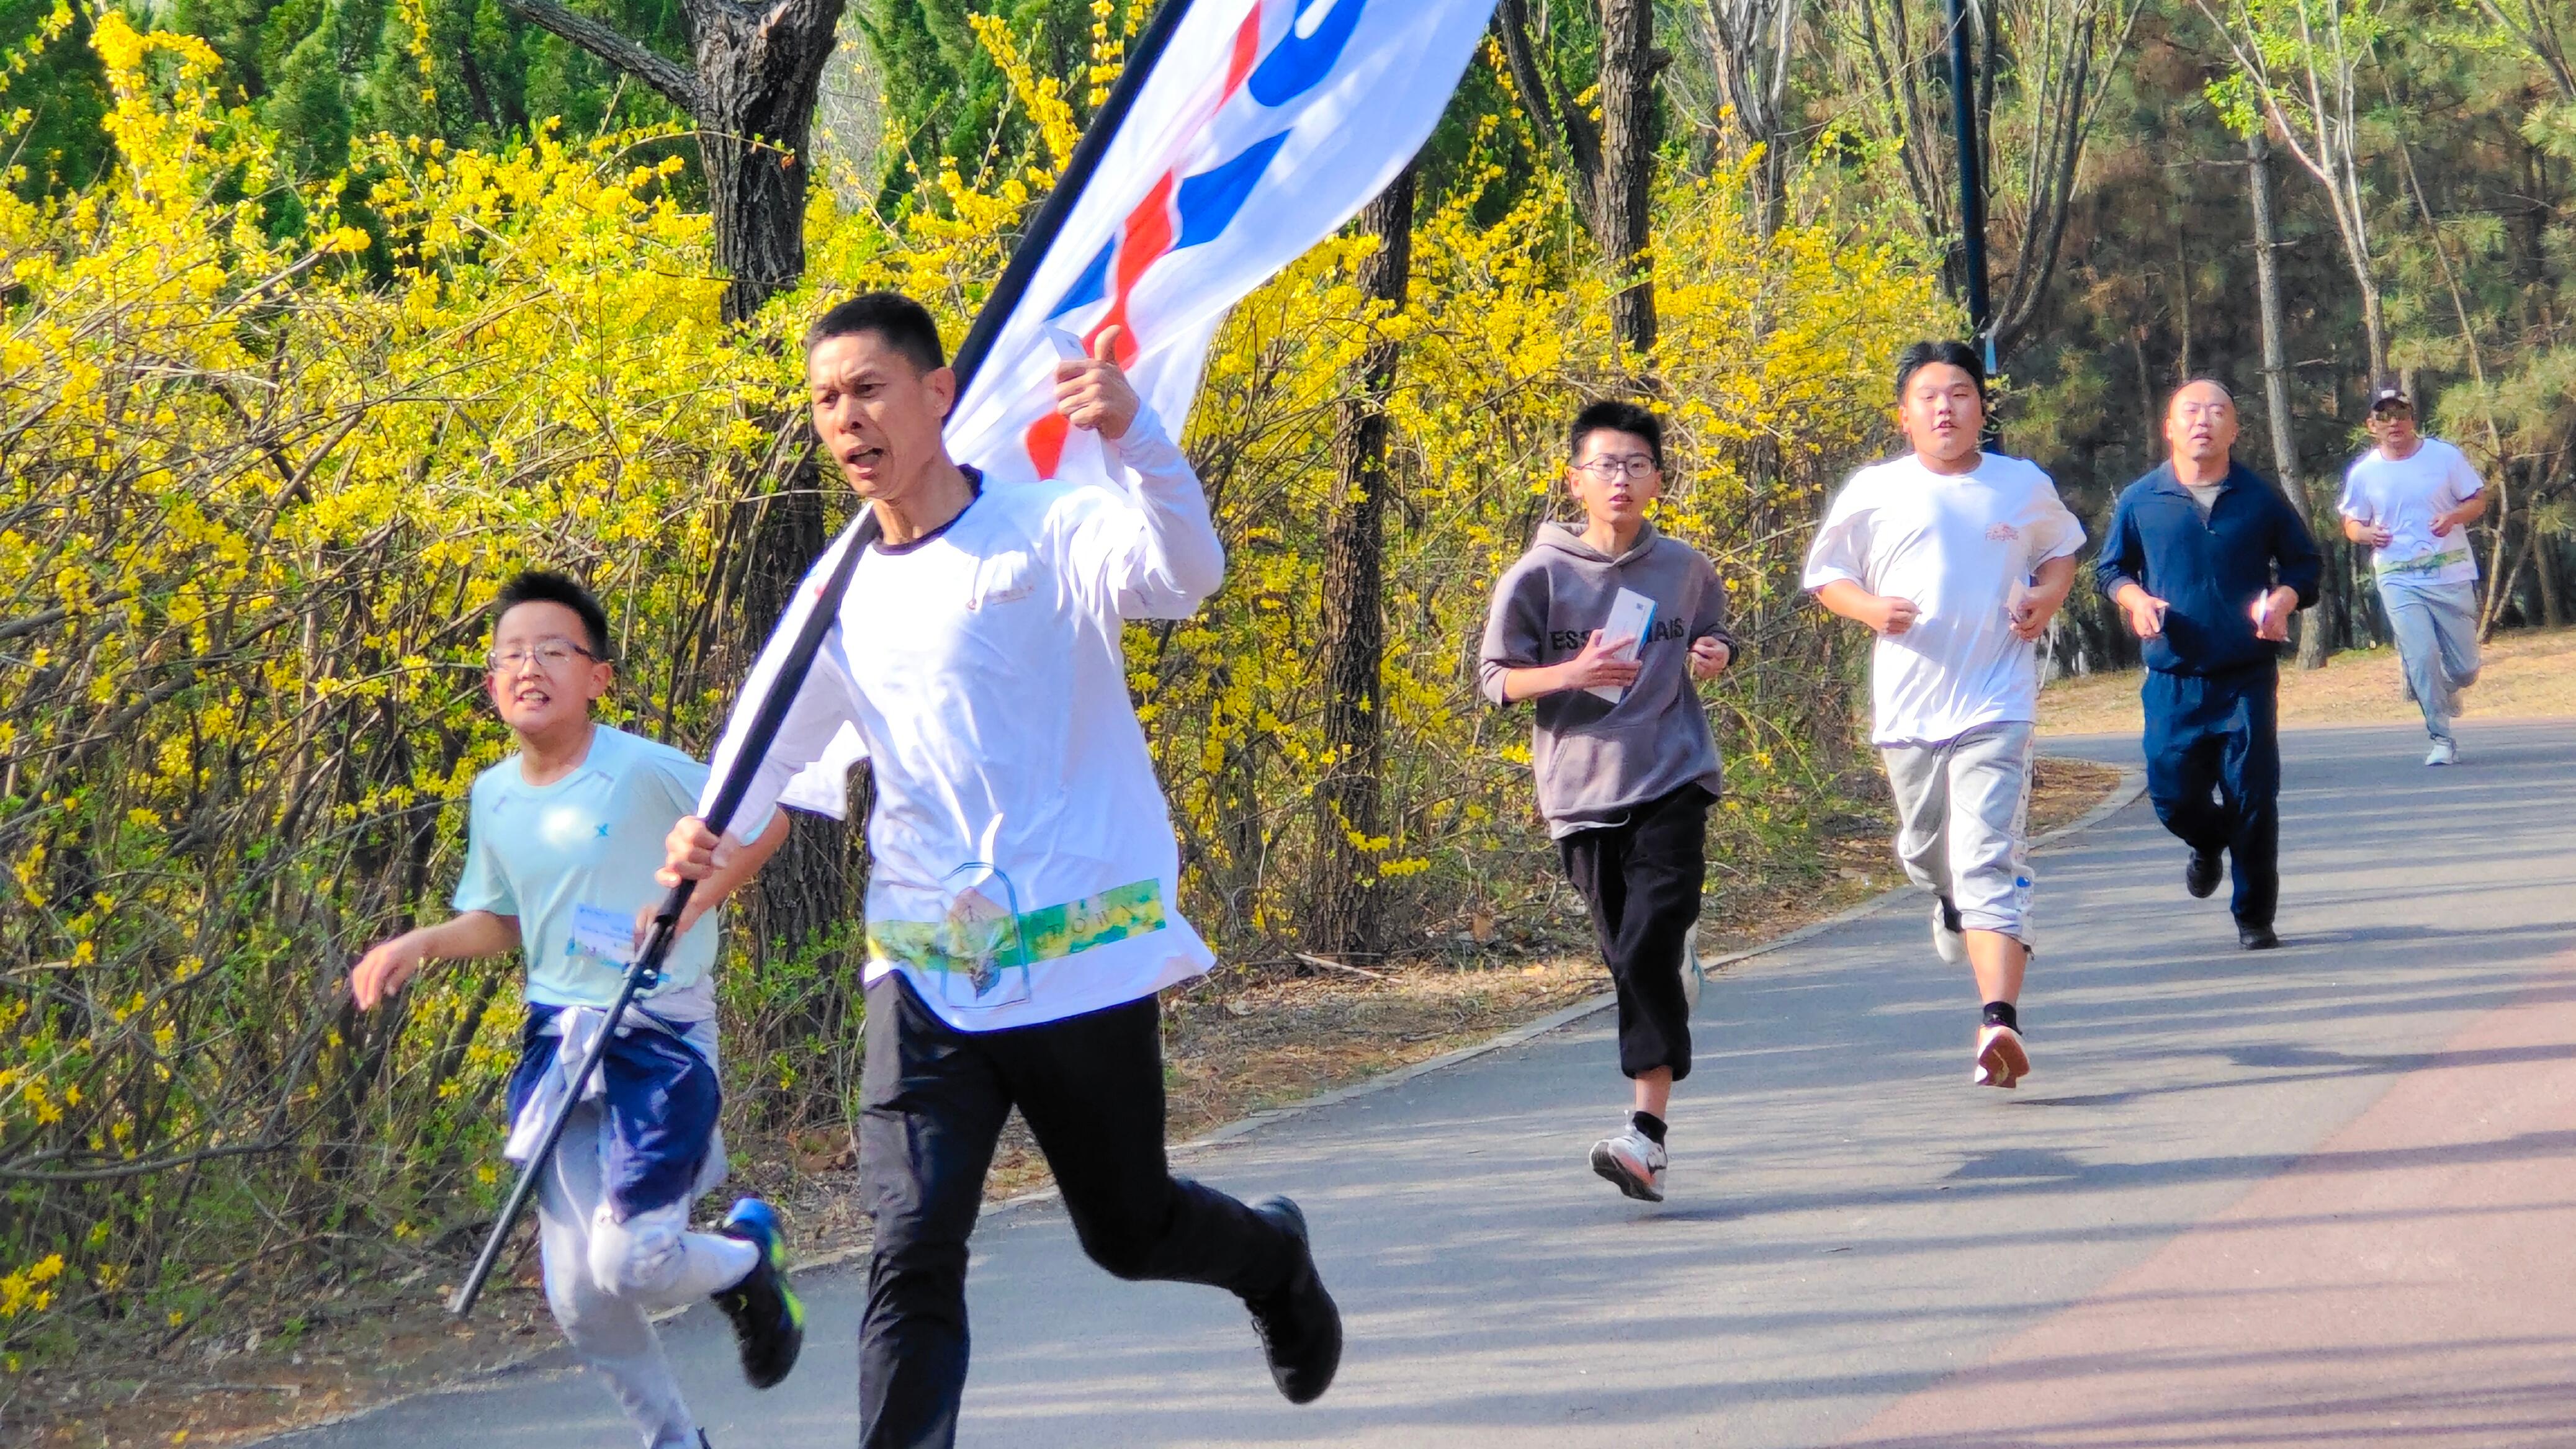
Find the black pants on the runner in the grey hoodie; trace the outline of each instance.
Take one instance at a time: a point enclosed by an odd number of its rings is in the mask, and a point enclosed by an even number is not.
[[[1618,1068],[1659,1066],[1690,1076],[1690,1004],[1682,999],[1682,934],[1700,919],[1708,875],[1708,790],[1682,785],[1628,811],[1618,826],[1556,842],[1566,875],[1592,906],[1592,932],[1618,988]]]

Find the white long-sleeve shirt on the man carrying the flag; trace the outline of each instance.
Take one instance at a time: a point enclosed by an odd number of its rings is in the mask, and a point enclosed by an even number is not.
[[[948,528],[860,558],[734,813],[752,839],[801,767],[871,759],[866,981],[902,970],[958,1029],[1118,1006],[1213,965],[1180,916],[1180,847],[1128,703],[1121,623],[1195,613],[1224,582],[1224,548],[1149,409],[1108,458],[1128,494],[989,486]],[[760,651],[701,813],[848,546],[845,533],[814,561]]]

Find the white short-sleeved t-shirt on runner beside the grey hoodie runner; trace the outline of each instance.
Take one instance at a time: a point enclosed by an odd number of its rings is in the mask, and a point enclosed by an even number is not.
[[[1806,587],[1852,579],[1922,610],[1870,654],[1870,739],[1937,744],[2038,718],[2038,649],[2012,633],[2012,602],[2081,546],[2084,525],[2025,458],[1984,453],[1950,476],[1906,453],[1852,474],[1806,551]]]

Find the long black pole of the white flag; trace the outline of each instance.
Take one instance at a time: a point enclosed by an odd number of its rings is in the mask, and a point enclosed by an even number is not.
[[[1110,85],[1100,111],[1092,113],[1090,126],[1084,126],[1082,142],[1074,144],[1074,154],[1064,162],[1064,175],[1056,178],[1056,190],[1048,193],[1046,206],[1041,206],[1038,216],[1028,224],[1028,234],[1020,237],[1020,245],[1012,250],[1010,265],[1005,265],[1002,278],[994,281],[992,296],[984,299],[984,309],[976,314],[974,327],[969,327],[966,340],[958,342],[956,360],[951,363],[951,371],[956,371],[958,378],[958,399],[966,396],[974,376],[984,368],[984,358],[1002,335],[1002,324],[1010,322],[1020,299],[1028,296],[1028,283],[1038,275],[1038,263],[1046,260],[1056,234],[1064,232],[1064,221],[1074,214],[1074,203],[1082,201],[1082,190],[1090,185],[1092,172],[1100,170],[1100,157],[1108,152],[1110,136],[1118,134],[1126,113],[1136,106],[1136,93],[1144,90],[1144,80],[1154,72],[1154,62],[1162,59],[1164,46],[1172,44],[1172,31],[1180,28],[1188,10],[1190,0],[1164,0],[1162,8],[1154,10],[1154,18],[1146,21],[1146,28],[1136,36],[1136,49],[1118,72],[1118,82]],[[711,834],[724,836],[724,831],[734,824],[734,811],[742,808],[742,795],[750,793],[752,777],[760,772],[760,762],[768,759],[770,744],[778,741],[778,726],[786,723],[788,705],[796,703],[796,692],[804,690],[806,674],[814,669],[814,654],[822,649],[822,641],[832,633],[832,623],[840,618],[840,600],[850,592],[850,571],[858,566],[858,556],[876,543],[876,510],[860,510],[850,546],[842,551],[832,577],[814,597],[814,610],[806,613],[804,628],[796,631],[796,643],[788,649],[786,659],[778,661],[778,674],[770,679],[770,692],[760,700],[760,710],[752,713],[750,728],[742,731],[742,749],[734,752],[734,759],[724,772],[724,788],[716,790],[716,803],[706,811],[706,829]],[[474,1269],[466,1274],[464,1287],[459,1287],[448,1300],[451,1318],[474,1313],[474,1300],[482,1297],[484,1282],[500,1264],[500,1253],[510,1243],[510,1230],[518,1225],[518,1215],[528,1210],[528,1199],[544,1179],[546,1158],[551,1158],[554,1145],[564,1140],[564,1125],[572,1120],[572,1109],[580,1107],[582,1086],[590,1081],[590,1073],[600,1068],[600,1058],[616,1037],[618,1019],[626,1017],[626,1006],[634,1004],[636,996],[652,991],[662,981],[662,963],[670,957],[672,939],[680,934],[680,911],[688,909],[688,898],[696,891],[696,880],[683,880],[670,888],[670,896],[662,898],[662,909],[654,911],[652,934],[644,939],[644,952],[636,955],[634,965],[626,968],[626,978],[618,983],[616,1004],[608,1009],[608,1024],[590,1042],[580,1068],[574,1068],[572,1084],[546,1117],[546,1130],[538,1135],[536,1150],[528,1153],[528,1166],[520,1168],[518,1181],[510,1184],[510,1199],[502,1202],[500,1217],[492,1220],[492,1233],[484,1238],[482,1253],[474,1256]]]

